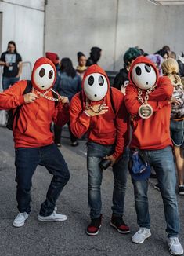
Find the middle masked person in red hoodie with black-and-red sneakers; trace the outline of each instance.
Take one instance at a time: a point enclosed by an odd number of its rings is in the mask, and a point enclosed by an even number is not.
[[[91,223],[87,234],[96,236],[101,226],[100,186],[103,168],[106,168],[101,161],[104,159],[113,166],[114,173],[110,225],[120,233],[128,233],[128,225],[122,218],[128,169],[128,113],[124,106],[124,95],[110,88],[106,72],[96,64],[87,69],[82,91],[70,103],[70,129],[76,137],[88,133],[88,203]]]

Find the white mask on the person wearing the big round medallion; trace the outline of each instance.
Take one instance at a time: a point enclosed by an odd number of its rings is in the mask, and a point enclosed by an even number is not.
[[[132,68],[132,82],[140,89],[147,90],[155,85],[157,74],[150,64],[139,63]]]

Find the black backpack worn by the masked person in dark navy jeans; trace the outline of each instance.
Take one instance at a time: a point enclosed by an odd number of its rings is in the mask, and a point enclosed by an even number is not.
[[[33,86],[32,86],[31,80],[27,80],[27,86],[26,86],[25,90],[23,91],[23,95],[27,94],[27,93],[31,93],[32,88],[33,88]],[[52,91],[52,95],[55,99],[58,99],[57,93]],[[55,101],[55,108],[56,108],[57,104],[58,104],[58,101]],[[13,130],[13,123],[14,123],[15,118],[16,118],[15,128],[17,128],[17,123],[18,123],[18,120],[20,117],[20,109],[21,108],[22,108],[22,105],[9,110],[9,117],[8,117],[7,124],[6,124],[6,127],[9,130]],[[13,112],[13,110],[14,110],[14,112]]]

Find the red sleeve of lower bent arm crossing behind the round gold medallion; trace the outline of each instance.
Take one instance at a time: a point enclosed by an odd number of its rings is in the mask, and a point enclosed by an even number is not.
[[[165,100],[165,101],[148,101],[148,104],[152,106],[153,112],[157,112],[159,109],[163,108],[164,106],[167,106],[169,103],[168,103],[168,100]],[[142,105],[138,101],[137,88],[132,84],[128,84],[128,86],[126,87],[125,105],[128,112],[132,116],[135,116],[138,114],[139,108]]]

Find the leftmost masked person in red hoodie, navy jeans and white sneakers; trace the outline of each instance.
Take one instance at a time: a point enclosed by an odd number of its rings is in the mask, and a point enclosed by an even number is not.
[[[56,68],[51,60],[41,57],[32,71],[31,81],[16,82],[0,93],[0,109],[13,109],[13,137],[16,151],[16,200],[19,214],[15,227],[24,225],[31,212],[31,179],[36,167],[45,166],[53,175],[45,202],[41,204],[38,221],[64,221],[66,215],[56,213],[56,199],[70,178],[67,163],[53,143],[52,121],[63,126],[68,122],[69,104],[66,97],[56,99],[52,86]],[[31,85],[31,92],[25,93]],[[57,104],[55,101],[58,101]],[[15,114],[20,108],[20,115]]]

